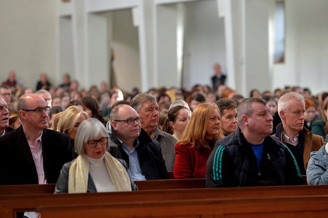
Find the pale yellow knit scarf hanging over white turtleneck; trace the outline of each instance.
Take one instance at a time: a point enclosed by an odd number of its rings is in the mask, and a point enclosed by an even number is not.
[[[131,182],[125,167],[111,154],[105,153],[105,165],[116,191],[131,191]],[[68,193],[86,193],[89,178],[89,160],[79,155],[70,167]]]

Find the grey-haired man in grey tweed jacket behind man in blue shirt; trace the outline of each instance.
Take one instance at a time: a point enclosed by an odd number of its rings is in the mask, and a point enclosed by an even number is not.
[[[163,132],[157,127],[159,106],[155,96],[148,93],[139,93],[134,96],[130,105],[137,111],[139,116],[142,117],[142,129],[144,129],[152,139],[158,141],[167,170],[169,172],[173,171],[175,159],[174,146],[177,139],[173,135]]]

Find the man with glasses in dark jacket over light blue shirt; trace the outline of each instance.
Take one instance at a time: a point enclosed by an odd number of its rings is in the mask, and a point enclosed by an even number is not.
[[[128,174],[135,180],[169,179],[157,141],[141,128],[142,117],[127,104],[114,105],[108,126],[111,140],[117,144],[111,155],[128,163]]]

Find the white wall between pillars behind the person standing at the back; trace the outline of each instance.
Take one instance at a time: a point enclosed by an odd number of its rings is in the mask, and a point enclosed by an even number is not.
[[[218,17],[214,0],[188,3],[186,8],[185,86],[212,86],[213,64],[219,62],[226,72],[224,20]]]

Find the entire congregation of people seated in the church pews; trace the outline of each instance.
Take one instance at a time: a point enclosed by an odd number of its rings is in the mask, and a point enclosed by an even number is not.
[[[195,85],[129,94],[105,82],[80,90],[69,75],[55,88],[46,74],[33,90],[13,72],[8,81],[0,86],[0,185],[124,191],[169,172],[207,178],[204,187],[297,185],[302,175],[328,184],[328,93],[286,87],[244,98],[225,85]]]

